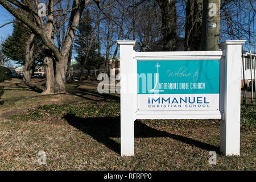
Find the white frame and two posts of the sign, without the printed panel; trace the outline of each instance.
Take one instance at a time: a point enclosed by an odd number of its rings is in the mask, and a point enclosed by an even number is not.
[[[134,40],[120,45],[121,156],[134,155],[136,119],[222,119],[220,151],[240,155],[241,45],[228,40],[222,51],[135,52]],[[220,60],[220,109],[216,111],[139,111],[137,108],[137,60]]]

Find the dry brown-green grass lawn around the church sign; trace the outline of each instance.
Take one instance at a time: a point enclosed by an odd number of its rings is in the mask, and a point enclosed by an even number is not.
[[[28,88],[0,83],[1,170],[255,170],[256,105],[241,108],[241,156],[219,151],[220,121],[135,121],[135,156],[120,156],[118,94],[97,83],[67,84],[67,94],[41,96],[44,80]],[[46,152],[46,165],[38,152]],[[209,151],[217,152],[210,165]]]

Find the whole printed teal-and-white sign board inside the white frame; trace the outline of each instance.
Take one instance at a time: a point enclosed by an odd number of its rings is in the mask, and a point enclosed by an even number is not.
[[[140,111],[218,110],[219,60],[138,60]]]

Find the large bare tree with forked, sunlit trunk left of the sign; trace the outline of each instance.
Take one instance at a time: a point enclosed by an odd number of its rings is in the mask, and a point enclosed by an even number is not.
[[[31,31],[39,36],[46,46],[44,64],[46,66],[46,89],[43,94],[64,93],[65,92],[65,73],[67,71],[67,63],[69,57],[69,49],[73,44],[75,32],[80,21],[80,17],[84,7],[88,5],[89,0],[48,0],[46,1],[46,16],[43,18],[38,14],[38,0],[35,0],[35,9],[31,9],[23,2],[18,0],[0,0],[0,4],[7,11],[13,14],[22,23],[26,24]],[[60,6],[61,3],[61,6]],[[71,6],[72,3],[72,6]],[[36,20],[36,24],[27,18],[26,15],[20,13],[18,9],[22,9]],[[56,16],[69,14],[65,26],[65,36],[61,49],[55,45],[54,35],[56,30]]]

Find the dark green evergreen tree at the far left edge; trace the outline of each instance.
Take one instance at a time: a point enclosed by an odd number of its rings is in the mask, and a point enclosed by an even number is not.
[[[31,85],[37,64],[44,59],[43,43],[23,23],[14,23],[13,34],[2,43],[2,53],[17,64],[24,65],[23,83]]]

